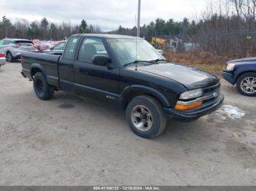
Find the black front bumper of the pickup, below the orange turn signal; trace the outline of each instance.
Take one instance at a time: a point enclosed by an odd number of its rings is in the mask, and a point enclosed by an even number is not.
[[[189,122],[197,120],[199,117],[216,111],[217,109],[219,109],[220,106],[222,106],[223,101],[224,95],[219,94],[219,96],[217,98],[214,98],[213,101],[209,101],[208,103],[203,104],[196,109],[192,109],[189,111],[180,111],[176,109],[165,108],[165,112],[169,117],[173,117],[176,120]]]

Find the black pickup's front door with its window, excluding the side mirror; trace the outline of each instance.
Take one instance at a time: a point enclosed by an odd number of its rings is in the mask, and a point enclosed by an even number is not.
[[[111,66],[96,66],[94,55],[106,55]],[[75,62],[75,89],[81,95],[92,95],[110,102],[118,99],[119,69],[113,63],[106,44],[98,37],[85,37]],[[116,102],[117,103],[117,102]]]

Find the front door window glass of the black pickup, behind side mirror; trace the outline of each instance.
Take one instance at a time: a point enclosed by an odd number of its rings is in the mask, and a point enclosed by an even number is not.
[[[81,44],[78,61],[84,63],[92,63],[94,55],[108,55],[107,50],[102,42],[102,39],[99,38],[86,38],[83,39]]]

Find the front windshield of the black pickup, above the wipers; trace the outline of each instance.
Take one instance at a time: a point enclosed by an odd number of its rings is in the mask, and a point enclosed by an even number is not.
[[[108,39],[108,44],[122,66],[135,61],[165,59],[154,47],[143,39]]]

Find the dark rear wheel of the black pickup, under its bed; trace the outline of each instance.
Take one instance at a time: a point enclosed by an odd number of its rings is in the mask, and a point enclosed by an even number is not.
[[[42,100],[49,100],[53,97],[54,89],[45,79],[45,76],[41,72],[37,72],[34,75],[34,93],[36,93],[37,97]]]

